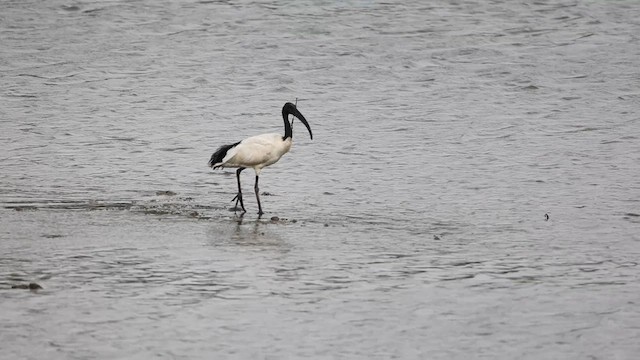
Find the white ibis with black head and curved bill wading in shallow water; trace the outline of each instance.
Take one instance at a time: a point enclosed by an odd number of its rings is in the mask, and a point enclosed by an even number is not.
[[[262,205],[260,204],[260,193],[258,189],[258,180],[260,179],[260,172],[263,168],[273,165],[282,155],[291,150],[292,145],[292,125],[294,118],[289,122],[289,115],[293,115],[298,118],[309,131],[309,137],[313,140],[313,133],[307,119],[298,111],[296,105],[287,102],[282,107],[282,119],[284,120],[284,135],[279,133],[261,134],[248,137],[242,141],[230,145],[220,146],[211,155],[209,160],[209,167],[213,170],[218,168],[238,168],[236,170],[236,178],[238,180],[238,194],[231,200],[236,202],[235,210],[238,210],[238,203],[242,208],[242,215],[247,210],[244,208],[244,202],[242,201],[242,187],[240,186],[240,173],[246,168],[253,168],[256,173],[256,182],[253,187],[256,193],[256,201],[258,202],[258,218],[260,218],[264,212],[262,211]]]

